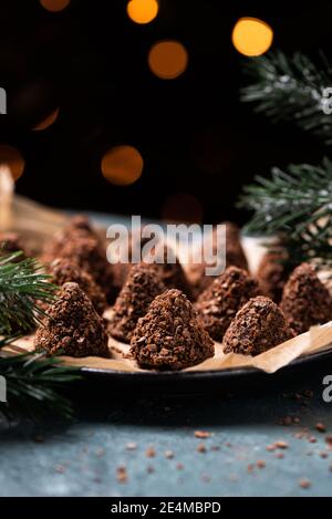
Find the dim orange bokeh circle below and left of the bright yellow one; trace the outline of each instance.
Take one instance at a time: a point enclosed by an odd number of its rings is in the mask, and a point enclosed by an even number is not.
[[[155,43],[148,53],[148,66],[163,80],[174,80],[185,72],[188,65],[188,52],[183,43],[165,40]]]

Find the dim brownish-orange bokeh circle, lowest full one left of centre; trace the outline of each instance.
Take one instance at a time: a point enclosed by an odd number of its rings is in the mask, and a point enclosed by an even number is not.
[[[133,146],[115,146],[102,158],[102,173],[106,180],[116,186],[129,186],[142,175],[143,158]]]

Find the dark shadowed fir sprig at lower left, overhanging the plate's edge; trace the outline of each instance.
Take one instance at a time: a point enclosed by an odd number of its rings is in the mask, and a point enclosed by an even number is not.
[[[81,378],[77,369],[62,366],[59,359],[46,357],[44,353],[2,353],[0,375],[7,382],[8,403],[0,404],[6,416],[17,412],[30,416],[54,412],[64,418],[72,417],[72,405],[59,390]]]

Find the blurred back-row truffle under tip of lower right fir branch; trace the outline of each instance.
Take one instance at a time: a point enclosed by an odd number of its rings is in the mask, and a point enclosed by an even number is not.
[[[290,273],[282,261],[283,259],[286,259],[283,249],[268,251],[262,257],[257,270],[261,292],[276,303],[281,301],[282,290]]]

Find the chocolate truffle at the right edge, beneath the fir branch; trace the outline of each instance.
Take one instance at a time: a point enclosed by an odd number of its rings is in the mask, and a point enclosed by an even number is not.
[[[280,308],[297,333],[332,319],[332,298],[309,263],[293,270],[283,288]]]

